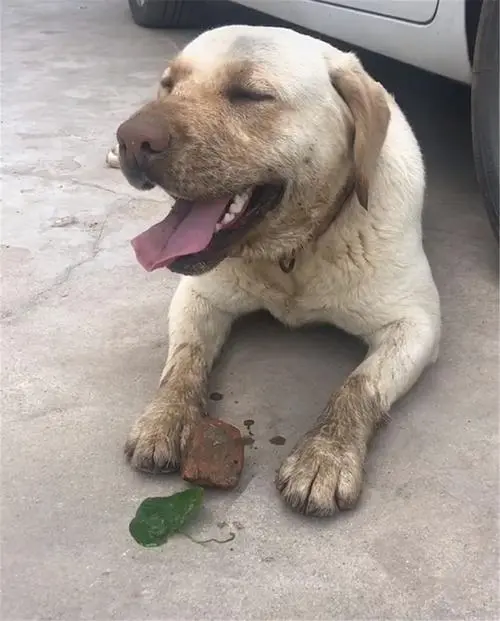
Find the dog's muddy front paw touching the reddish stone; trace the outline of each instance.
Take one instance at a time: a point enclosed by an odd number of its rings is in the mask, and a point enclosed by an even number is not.
[[[131,466],[145,472],[178,470],[184,444],[197,419],[197,413],[180,414],[178,408],[151,407],[136,421],[125,443]]]

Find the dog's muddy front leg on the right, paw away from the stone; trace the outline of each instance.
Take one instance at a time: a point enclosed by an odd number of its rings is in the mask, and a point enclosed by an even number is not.
[[[373,334],[368,355],[282,464],[276,485],[296,510],[330,515],[355,505],[369,439],[391,405],[437,356],[439,318],[399,321]]]

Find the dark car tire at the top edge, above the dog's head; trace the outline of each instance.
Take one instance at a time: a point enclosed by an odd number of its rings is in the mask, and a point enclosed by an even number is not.
[[[128,0],[132,19],[145,28],[207,28],[230,21],[229,2]]]

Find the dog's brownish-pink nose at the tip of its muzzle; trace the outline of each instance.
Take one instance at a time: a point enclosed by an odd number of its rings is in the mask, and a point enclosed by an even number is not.
[[[169,132],[162,119],[138,112],[120,125],[116,132],[121,155],[139,168],[147,165],[151,156],[163,153],[170,142]]]

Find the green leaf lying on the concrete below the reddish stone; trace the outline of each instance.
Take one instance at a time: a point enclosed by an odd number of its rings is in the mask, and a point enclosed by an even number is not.
[[[130,522],[130,534],[145,548],[160,546],[184,526],[202,502],[202,487],[191,487],[172,496],[146,498]]]

